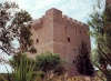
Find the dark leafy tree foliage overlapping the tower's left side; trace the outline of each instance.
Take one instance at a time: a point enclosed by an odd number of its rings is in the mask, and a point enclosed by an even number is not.
[[[12,24],[16,24],[20,28],[17,28],[17,30],[13,30],[14,32],[18,31],[18,29],[20,29],[20,34],[18,36],[18,39],[20,40],[20,51],[26,52],[29,50],[33,50],[32,44],[33,44],[33,40],[31,39],[31,21],[32,18],[30,17],[30,14],[27,11],[21,10],[20,12],[17,12],[14,14],[14,19],[12,21]],[[33,51],[29,51],[29,52],[33,52]],[[34,53],[36,53],[36,49],[34,49]]]

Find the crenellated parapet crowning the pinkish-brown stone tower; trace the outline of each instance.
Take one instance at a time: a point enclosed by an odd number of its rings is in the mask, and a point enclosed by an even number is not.
[[[48,10],[46,12],[44,16],[42,16],[42,18],[40,19],[37,19],[33,21],[32,26],[34,27],[42,27],[42,24],[46,22],[46,23],[50,23],[50,22],[58,22],[58,23],[63,23],[63,21],[65,23],[68,23],[69,26],[78,26],[78,27],[89,27],[88,24],[85,23],[82,23],[78,20],[74,20],[68,16],[64,16],[62,14],[62,11],[56,9],[56,8],[52,8],[50,10]]]

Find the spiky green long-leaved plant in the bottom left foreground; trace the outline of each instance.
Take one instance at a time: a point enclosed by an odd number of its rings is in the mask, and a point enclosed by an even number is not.
[[[12,75],[6,79],[0,74],[0,78],[3,81],[39,81],[42,72],[34,72],[34,67],[36,63],[33,64],[33,61],[29,62],[26,57],[21,57],[20,64],[16,63],[16,69],[12,70]]]

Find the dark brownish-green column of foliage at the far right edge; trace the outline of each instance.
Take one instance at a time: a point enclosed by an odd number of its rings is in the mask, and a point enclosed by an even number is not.
[[[104,40],[105,40],[104,47],[105,51],[108,51],[107,53],[109,53],[109,51],[111,50],[111,7],[105,8],[103,19],[104,19]]]

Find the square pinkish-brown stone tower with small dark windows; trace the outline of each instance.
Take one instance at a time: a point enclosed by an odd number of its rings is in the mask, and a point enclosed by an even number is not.
[[[89,50],[91,49],[88,31],[87,24],[62,16],[62,11],[54,8],[48,10],[42,18],[34,20],[31,28],[33,47],[38,54],[46,51],[60,54],[68,61],[70,77],[79,74],[74,63],[82,40],[88,43]],[[36,54],[29,57],[34,58]]]

